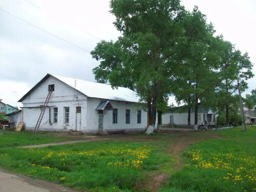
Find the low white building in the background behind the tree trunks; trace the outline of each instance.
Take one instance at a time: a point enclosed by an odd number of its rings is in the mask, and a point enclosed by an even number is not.
[[[197,113],[197,123],[201,124],[202,121],[207,121],[208,125],[216,125],[217,113],[211,110],[206,110],[202,104],[199,103]],[[191,108],[190,113],[191,125],[195,123],[195,109]],[[188,112],[187,106],[174,107],[162,115],[162,124],[176,124],[188,125]]]

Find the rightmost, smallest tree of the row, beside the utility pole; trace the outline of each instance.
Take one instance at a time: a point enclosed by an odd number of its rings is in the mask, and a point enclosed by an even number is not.
[[[237,81],[240,83],[240,90],[248,88],[246,80],[253,77],[251,71],[253,64],[250,61],[248,53],[242,54],[240,50],[236,50],[234,45],[229,41],[219,37],[220,58],[219,78],[221,84],[218,89],[218,108],[225,108],[226,126],[229,125],[229,109],[230,103],[233,102],[233,94],[237,91]]]

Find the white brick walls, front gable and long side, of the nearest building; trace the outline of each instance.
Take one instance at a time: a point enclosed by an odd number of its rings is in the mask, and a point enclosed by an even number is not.
[[[75,83],[75,82],[74,82]],[[47,131],[68,131],[76,129],[76,106],[81,106],[81,131],[98,131],[98,113],[97,106],[102,99],[87,98],[83,94],[77,93],[78,99],[74,98],[74,89],[67,84],[49,77],[40,86],[38,86],[22,103],[23,107],[35,107],[43,105],[48,94],[48,85],[54,84],[54,91],[50,97],[48,106],[51,108],[51,123],[49,122],[49,108],[46,108],[39,130]],[[100,91],[100,90],[99,90]],[[142,110],[141,123],[137,124],[137,108],[135,104],[123,101],[110,101],[113,108],[117,108],[117,124],[113,124],[112,110],[103,115],[103,130],[113,129],[145,129],[147,126],[147,112]],[[53,107],[58,108],[58,122],[53,123]],[[64,123],[64,107],[69,107],[69,123]],[[125,109],[130,109],[130,123],[125,123]],[[24,108],[23,121],[25,129],[34,129],[37,123],[40,108]]]

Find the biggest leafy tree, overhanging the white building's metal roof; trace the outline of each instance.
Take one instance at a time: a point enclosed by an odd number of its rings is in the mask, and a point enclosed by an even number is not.
[[[176,78],[184,9],[179,0],[111,0],[110,9],[122,36],[99,42],[91,52],[100,61],[93,69],[95,79],[138,91],[154,125],[157,110],[167,110],[167,94]]]

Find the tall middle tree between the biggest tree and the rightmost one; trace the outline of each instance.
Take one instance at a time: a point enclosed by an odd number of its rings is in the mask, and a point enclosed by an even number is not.
[[[183,75],[179,75],[180,87],[176,92],[176,100],[182,101],[188,107],[188,125],[190,125],[190,110],[195,108],[194,129],[197,129],[198,102],[209,108],[214,106],[214,92],[218,84],[218,39],[213,37],[214,28],[206,22],[195,6],[188,12],[182,22],[184,40],[181,43]]]

